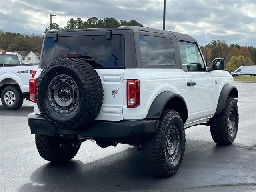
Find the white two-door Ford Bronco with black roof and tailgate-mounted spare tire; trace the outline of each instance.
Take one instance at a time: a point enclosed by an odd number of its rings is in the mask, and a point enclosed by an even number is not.
[[[39,154],[68,162],[82,142],[138,146],[146,170],[177,172],[185,129],[210,126],[214,142],[229,145],[238,131],[238,91],[224,60],[207,67],[189,35],[122,26],[50,30],[28,114]]]

